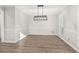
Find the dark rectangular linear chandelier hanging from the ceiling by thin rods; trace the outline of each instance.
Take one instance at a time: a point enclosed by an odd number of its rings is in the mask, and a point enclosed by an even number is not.
[[[42,21],[42,20],[46,21],[47,20],[47,15],[43,15],[43,7],[44,5],[37,5],[37,15],[34,16],[33,18],[34,21]]]

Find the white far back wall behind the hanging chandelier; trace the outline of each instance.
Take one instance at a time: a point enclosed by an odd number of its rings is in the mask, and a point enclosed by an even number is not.
[[[33,16],[29,21],[29,34],[32,35],[54,35],[56,34],[56,16],[48,15],[47,21],[33,21]]]

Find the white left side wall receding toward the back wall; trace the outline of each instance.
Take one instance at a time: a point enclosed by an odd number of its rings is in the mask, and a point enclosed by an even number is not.
[[[15,33],[17,39],[24,38],[28,35],[28,23],[29,23],[29,16],[23,13],[21,10],[15,10]],[[20,34],[25,35],[24,37],[20,37]]]

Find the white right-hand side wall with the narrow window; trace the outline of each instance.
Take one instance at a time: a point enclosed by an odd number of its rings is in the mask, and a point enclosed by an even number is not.
[[[58,32],[58,36],[64,39],[74,49],[79,51],[79,39],[77,39],[77,13],[77,6],[69,6],[59,14],[58,31],[63,28],[63,33],[62,31]],[[63,27],[60,26],[60,23]]]

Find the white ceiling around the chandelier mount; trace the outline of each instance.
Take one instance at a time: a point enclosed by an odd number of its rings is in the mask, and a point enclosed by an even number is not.
[[[45,15],[54,15],[62,11],[66,5],[44,5],[43,11]],[[22,12],[29,15],[37,14],[37,6],[36,5],[18,5],[16,8],[20,9]]]

